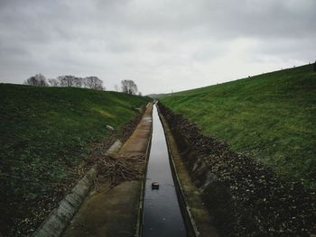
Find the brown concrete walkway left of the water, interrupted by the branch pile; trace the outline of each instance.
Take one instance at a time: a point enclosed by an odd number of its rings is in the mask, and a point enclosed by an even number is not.
[[[148,158],[152,112],[153,105],[149,104],[119,155]],[[99,192],[88,196],[62,236],[139,236],[143,186],[144,179],[125,181],[114,188],[101,183]]]

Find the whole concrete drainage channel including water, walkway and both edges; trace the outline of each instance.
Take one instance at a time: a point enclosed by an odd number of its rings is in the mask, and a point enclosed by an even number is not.
[[[111,199],[114,196],[107,196],[107,192],[88,196],[96,180],[97,169],[94,167],[60,201],[60,205],[33,236],[120,236],[122,232],[128,232],[128,236],[144,237],[218,236],[211,223],[211,216],[201,201],[200,190],[194,186],[187,169],[181,163],[168,124],[162,114],[158,115],[158,109],[155,109],[152,125],[152,105],[147,109],[147,114],[137,125],[137,132],[124,145],[116,141],[107,150],[110,154],[116,154],[119,150],[118,154],[141,152],[145,155],[147,169],[144,173],[147,179],[125,182],[111,191],[119,192],[121,198],[127,195],[127,199],[120,199],[124,204],[118,201],[116,205],[125,205],[128,210],[125,208],[123,213],[117,215],[104,209],[105,206],[101,207],[105,202],[103,200],[107,200],[107,203],[117,201]],[[134,194],[131,196],[131,193]],[[95,203],[96,198],[99,201]],[[116,210],[116,205],[109,205]],[[98,223],[94,220],[98,220]]]

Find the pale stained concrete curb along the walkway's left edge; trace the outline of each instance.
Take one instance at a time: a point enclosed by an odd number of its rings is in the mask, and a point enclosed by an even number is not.
[[[122,141],[116,140],[107,150],[107,154],[116,153],[121,147]],[[87,174],[81,178],[78,184],[71,189],[70,194],[65,196],[58,207],[53,209],[42,224],[33,232],[33,237],[57,237],[64,231],[70,223],[73,215],[79,210],[80,205],[93,187],[97,177],[97,167],[88,170]]]

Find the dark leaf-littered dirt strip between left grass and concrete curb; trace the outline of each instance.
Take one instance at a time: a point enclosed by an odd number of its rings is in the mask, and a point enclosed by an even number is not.
[[[130,137],[143,114],[144,108],[142,113],[126,123],[119,132],[113,132],[105,141],[90,144],[87,158],[78,167],[70,168],[63,183],[56,184],[50,193],[33,200],[11,200],[9,206],[1,208],[7,210],[7,214],[2,214],[3,217],[1,218],[4,219],[1,222],[7,226],[7,230],[0,233],[0,236],[30,236],[88,169],[95,165],[100,157],[105,156],[108,148],[117,139],[125,142]],[[14,216],[10,210],[14,210]]]

